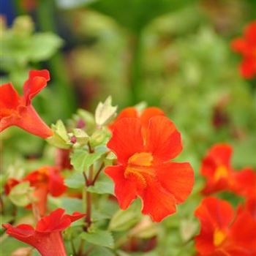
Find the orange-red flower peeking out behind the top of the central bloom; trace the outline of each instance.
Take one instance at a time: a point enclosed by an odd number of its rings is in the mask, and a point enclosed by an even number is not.
[[[165,116],[164,111],[160,108],[149,107],[145,108],[141,113],[138,112],[136,108],[129,107],[124,108],[116,117],[116,120],[113,121],[113,124],[110,124],[110,129],[113,130],[116,122],[120,121],[122,118],[140,118],[143,129],[148,127],[148,121],[153,116]]]

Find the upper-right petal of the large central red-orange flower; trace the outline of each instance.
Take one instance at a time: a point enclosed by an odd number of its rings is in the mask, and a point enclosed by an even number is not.
[[[173,122],[165,116],[152,117],[146,133],[146,151],[151,152],[155,159],[167,161],[181,150],[181,134]]]

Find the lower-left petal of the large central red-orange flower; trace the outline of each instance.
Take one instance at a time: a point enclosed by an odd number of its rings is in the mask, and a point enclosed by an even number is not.
[[[119,206],[125,210],[132,203],[132,200],[135,200],[137,197],[135,182],[124,177],[124,167],[121,165],[106,167],[105,173],[113,179],[115,183],[115,195]]]

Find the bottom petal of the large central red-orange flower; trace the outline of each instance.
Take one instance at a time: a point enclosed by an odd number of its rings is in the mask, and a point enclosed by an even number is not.
[[[176,212],[176,200],[157,181],[148,181],[146,189],[140,191],[143,214],[148,214],[155,222]]]

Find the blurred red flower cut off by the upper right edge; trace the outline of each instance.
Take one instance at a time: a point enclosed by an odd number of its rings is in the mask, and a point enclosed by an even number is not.
[[[244,78],[253,78],[256,75],[256,20],[246,27],[244,37],[231,42],[231,47],[243,56],[241,75]]]

